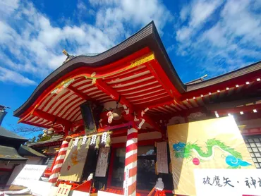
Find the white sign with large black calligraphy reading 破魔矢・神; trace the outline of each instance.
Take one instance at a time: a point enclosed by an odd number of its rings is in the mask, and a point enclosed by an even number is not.
[[[194,169],[197,195],[261,195],[260,169]]]

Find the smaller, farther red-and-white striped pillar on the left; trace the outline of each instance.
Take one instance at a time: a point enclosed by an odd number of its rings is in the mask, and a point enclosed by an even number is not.
[[[64,140],[61,144],[61,148],[59,149],[58,155],[56,157],[54,167],[51,171],[51,176],[49,177],[49,183],[56,183],[58,180],[61,166],[63,165],[63,161],[66,157],[66,151],[68,149],[68,142]]]

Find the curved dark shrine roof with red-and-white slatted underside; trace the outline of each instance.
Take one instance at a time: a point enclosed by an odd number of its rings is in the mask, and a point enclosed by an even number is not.
[[[20,121],[49,127],[80,120],[80,104],[120,100],[133,109],[167,114],[202,106],[226,90],[260,77],[261,63],[185,85],[178,77],[154,23],[101,54],[76,56],[47,76],[14,111]],[[244,89],[244,88],[242,88]],[[60,92],[61,91],[61,92]],[[236,91],[238,92],[238,91]],[[214,94],[215,93],[215,94]],[[59,121],[59,122],[58,122]]]

